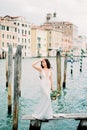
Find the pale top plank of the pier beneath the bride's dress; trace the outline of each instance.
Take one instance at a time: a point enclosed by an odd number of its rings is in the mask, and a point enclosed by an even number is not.
[[[87,113],[70,113],[70,114],[64,114],[64,113],[59,113],[55,114],[53,118],[49,120],[57,120],[57,119],[87,119]],[[24,115],[22,116],[23,120],[36,120],[36,118],[32,117],[31,115]]]

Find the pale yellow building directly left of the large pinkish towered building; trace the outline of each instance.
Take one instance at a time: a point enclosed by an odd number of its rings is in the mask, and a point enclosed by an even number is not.
[[[55,56],[57,49],[62,47],[62,33],[49,25],[42,25],[41,28],[47,31],[47,55]]]

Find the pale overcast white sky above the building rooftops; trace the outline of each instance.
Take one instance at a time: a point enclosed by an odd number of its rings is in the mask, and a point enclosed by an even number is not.
[[[57,14],[57,20],[78,27],[78,33],[87,36],[87,0],[2,0],[0,16],[23,16],[29,23],[41,25],[47,13]]]

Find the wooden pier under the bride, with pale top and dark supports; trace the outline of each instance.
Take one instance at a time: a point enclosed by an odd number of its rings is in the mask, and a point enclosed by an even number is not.
[[[87,130],[87,113],[58,113],[53,116],[51,119],[36,119],[31,115],[24,115],[23,120],[30,120],[29,130],[41,130],[41,124],[43,122],[59,120],[59,119],[75,119],[80,120],[80,123],[77,127],[77,130]]]

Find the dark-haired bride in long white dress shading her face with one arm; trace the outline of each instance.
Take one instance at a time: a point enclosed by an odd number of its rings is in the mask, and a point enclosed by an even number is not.
[[[38,63],[41,63],[40,67],[38,67]],[[40,72],[41,79],[40,102],[32,116],[36,119],[51,119],[53,117],[53,110],[51,105],[50,92],[54,89],[52,83],[51,64],[48,59],[41,59],[35,61],[32,64],[32,67]]]

